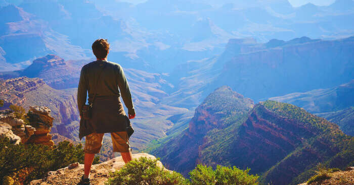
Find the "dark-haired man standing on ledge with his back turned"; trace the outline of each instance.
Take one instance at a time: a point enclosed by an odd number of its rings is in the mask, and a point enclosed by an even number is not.
[[[113,152],[120,152],[125,163],[131,160],[126,128],[131,128],[129,119],[135,117],[135,109],[123,69],[120,65],[107,61],[109,46],[105,39],[96,40],[92,44],[92,51],[97,60],[81,69],[77,89],[77,105],[80,110],[79,138],[81,140],[86,137],[86,141],[84,175],[78,184],[90,184],[91,165],[95,154],[101,150],[104,133],[111,133]],[[92,103],[90,119],[82,117],[87,92],[89,102]],[[120,102],[120,96],[128,109],[129,119]]]

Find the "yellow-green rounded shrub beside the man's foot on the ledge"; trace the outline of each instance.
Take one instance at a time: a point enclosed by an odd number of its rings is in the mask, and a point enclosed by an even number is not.
[[[159,159],[141,157],[125,164],[119,171],[110,174],[107,185],[149,184],[178,185],[189,184],[180,173],[170,172],[157,166]]]

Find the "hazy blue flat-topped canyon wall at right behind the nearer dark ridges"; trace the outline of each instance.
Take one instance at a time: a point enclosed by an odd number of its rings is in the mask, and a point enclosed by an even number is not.
[[[300,37],[267,43],[231,39],[222,54],[176,67],[167,78],[176,91],[164,101],[195,107],[222,85],[255,102],[331,88],[354,79],[353,49],[354,37],[331,41]],[[175,96],[180,97],[178,101],[174,101]]]

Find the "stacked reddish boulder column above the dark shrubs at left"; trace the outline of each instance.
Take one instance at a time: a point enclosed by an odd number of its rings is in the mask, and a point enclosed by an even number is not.
[[[34,135],[28,140],[28,143],[53,146],[52,135],[49,133],[53,127],[53,117],[48,107],[33,106],[27,113],[30,124],[35,127]]]

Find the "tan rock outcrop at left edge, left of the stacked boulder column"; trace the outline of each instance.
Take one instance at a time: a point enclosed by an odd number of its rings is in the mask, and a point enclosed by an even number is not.
[[[20,137],[23,144],[25,144],[35,132],[35,128],[30,125],[25,125],[24,121],[16,118],[15,114],[12,113],[11,110],[1,110],[0,121],[3,121],[9,125],[12,133]]]

